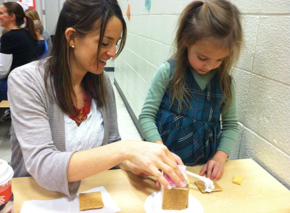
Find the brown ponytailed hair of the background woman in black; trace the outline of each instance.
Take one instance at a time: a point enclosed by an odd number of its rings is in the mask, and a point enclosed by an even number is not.
[[[15,15],[15,22],[18,27],[20,27],[24,23],[24,18],[27,20],[27,30],[34,40],[38,41],[37,34],[34,29],[34,23],[31,17],[25,15],[23,8],[20,4],[16,2],[5,2],[3,5],[6,7],[7,13],[9,15]]]

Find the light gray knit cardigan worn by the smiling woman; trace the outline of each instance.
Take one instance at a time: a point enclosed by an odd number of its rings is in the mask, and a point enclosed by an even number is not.
[[[33,176],[48,190],[74,197],[80,181],[67,182],[69,160],[66,152],[64,116],[53,97],[54,89],[44,85],[44,64],[34,61],[15,68],[8,77],[8,101],[11,109],[11,166],[14,177]],[[103,145],[121,140],[118,131],[114,90],[104,74],[108,102],[100,107],[104,120]]]

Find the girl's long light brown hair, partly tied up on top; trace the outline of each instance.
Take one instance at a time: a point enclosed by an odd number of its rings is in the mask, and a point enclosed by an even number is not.
[[[186,104],[190,100],[191,94],[185,90],[187,46],[204,39],[214,39],[219,46],[230,50],[230,54],[217,68],[220,88],[223,91],[221,104],[225,103],[221,113],[224,113],[232,101],[230,70],[239,57],[243,42],[240,12],[225,0],[193,1],[182,11],[175,38],[177,50],[173,55],[176,67],[169,83],[172,103],[175,99],[179,104]]]

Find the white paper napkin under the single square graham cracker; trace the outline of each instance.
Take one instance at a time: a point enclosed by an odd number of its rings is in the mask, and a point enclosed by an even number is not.
[[[107,190],[101,186],[85,192],[101,192],[104,207],[86,210],[85,213],[116,213],[121,211]],[[82,192],[83,193],[83,192]],[[55,200],[30,200],[25,201],[20,213],[84,213],[79,211],[79,194],[72,200],[68,197]]]

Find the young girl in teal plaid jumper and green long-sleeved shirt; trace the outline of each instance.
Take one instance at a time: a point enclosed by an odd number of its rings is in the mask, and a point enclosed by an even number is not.
[[[182,12],[175,42],[139,123],[147,141],[164,143],[181,164],[205,163],[200,175],[218,180],[238,133],[230,68],[242,43],[240,12],[225,0],[194,1]]]

